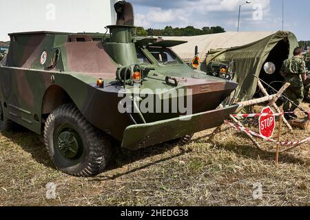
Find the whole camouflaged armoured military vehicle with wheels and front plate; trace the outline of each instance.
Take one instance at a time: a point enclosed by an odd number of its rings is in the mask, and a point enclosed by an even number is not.
[[[171,50],[183,41],[132,36],[131,3],[114,7],[117,23],[105,34],[9,34],[0,63],[1,131],[19,124],[43,134],[52,162],[69,175],[102,173],[113,139],[130,150],[188,141],[238,107],[218,109],[236,83],[189,67]],[[174,98],[191,111],[175,111]]]

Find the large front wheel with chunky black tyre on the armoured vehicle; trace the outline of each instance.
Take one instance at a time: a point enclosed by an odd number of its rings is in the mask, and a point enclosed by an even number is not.
[[[56,168],[76,177],[99,175],[111,157],[110,137],[87,122],[73,104],[50,114],[44,140]]]

